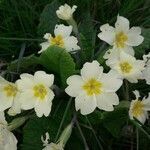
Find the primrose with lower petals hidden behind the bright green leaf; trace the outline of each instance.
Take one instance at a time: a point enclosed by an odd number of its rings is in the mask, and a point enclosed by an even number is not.
[[[46,33],[44,39],[47,41],[40,44],[42,49],[38,53],[42,53],[52,45],[64,48],[68,52],[79,50],[80,47],[77,45],[78,40],[76,37],[70,35],[71,32],[72,26],[65,26],[63,24],[56,25],[54,37],[50,33]]]

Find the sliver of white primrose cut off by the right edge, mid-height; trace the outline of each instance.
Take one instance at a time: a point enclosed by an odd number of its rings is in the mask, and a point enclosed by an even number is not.
[[[145,62],[145,69],[143,70],[143,78],[146,80],[146,83],[150,85],[150,53],[143,56]]]

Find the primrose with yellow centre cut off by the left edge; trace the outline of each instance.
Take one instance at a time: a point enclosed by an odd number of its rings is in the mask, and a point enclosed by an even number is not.
[[[13,105],[18,94],[16,84],[6,81],[0,76],[0,111],[4,111]]]

